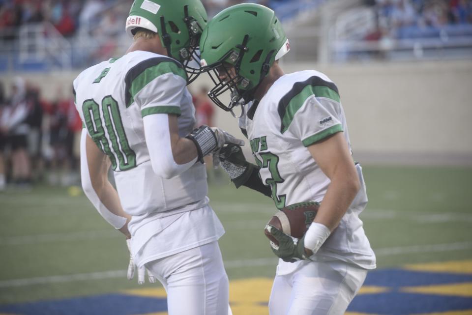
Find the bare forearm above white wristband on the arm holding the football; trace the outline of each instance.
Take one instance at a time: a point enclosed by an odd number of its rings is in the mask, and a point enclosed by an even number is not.
[[[346,214],[359,188],[359,178],[355,169],[354,172],[351,168],[337,170],[331,178],[314,222],[323,224],[331,231],[335,229]]]

